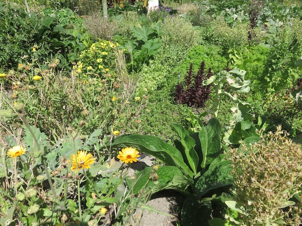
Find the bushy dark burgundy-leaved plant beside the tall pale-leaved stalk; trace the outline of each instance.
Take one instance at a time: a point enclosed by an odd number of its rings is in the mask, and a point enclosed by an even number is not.
[[[185,77],[185,84],[179,83],[176,86],[176,99],[180,104],[187,104],[190,107],[204,106],[204,102],[210,98],[211,85],[203,85],[202,82],[213,74],[209,68],[205,71],[205,63],[202,61],[196,75],[193,74],[193,64]]]

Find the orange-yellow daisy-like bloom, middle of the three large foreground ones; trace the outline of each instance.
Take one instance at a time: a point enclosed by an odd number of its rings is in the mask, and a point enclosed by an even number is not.
[[[93,158],[91,153],[87,151],[78,151],[78,154],[73,154],[70,156],[71,161],[71,170],[78,172],[80,169],[89,169],[90,165],[94,164],[95,158]]]

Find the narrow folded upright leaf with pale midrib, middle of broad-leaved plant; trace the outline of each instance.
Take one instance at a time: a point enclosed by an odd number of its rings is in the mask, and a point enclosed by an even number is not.
[[[189,136],[188,131],[181,125],[172,124],[176,133],[180,137],[180,142],[184,148],[185,157],[191,167],[194,175],[197,173],[199,157],[194,150],[195,140]]]

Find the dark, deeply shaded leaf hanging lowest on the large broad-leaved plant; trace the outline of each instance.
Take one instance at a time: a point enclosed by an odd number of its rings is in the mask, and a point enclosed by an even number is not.
[[[211,201],[199,201],[193,194],[187,196],[181,210],[181,222],[186,226],[206,226],[212,213]]]

